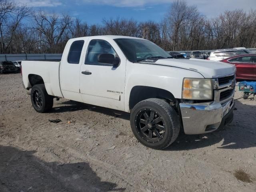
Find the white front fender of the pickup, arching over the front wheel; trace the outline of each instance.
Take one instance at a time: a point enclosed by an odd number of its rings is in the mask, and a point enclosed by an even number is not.
[[[204,78],[200,73],[192,70],[157,64],[127,62],[124,98],[125,111],[130,112],[129,98],[134,86],[164,89],[171,92],[175,98],[181,99],[184,77]]]

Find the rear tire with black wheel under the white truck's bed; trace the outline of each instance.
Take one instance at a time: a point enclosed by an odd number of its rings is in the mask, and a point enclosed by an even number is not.
[[[39,113],[45,113],[52,109],[53,96],[47,94],[44,84],[34,85],[30,94],[32,106]]]

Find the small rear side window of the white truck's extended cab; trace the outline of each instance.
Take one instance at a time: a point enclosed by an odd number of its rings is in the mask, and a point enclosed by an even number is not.
[[[84,40],[74,41],[68,53],[68,63],[79,64]]]

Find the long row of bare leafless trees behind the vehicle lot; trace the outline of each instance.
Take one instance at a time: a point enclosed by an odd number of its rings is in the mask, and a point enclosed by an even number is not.
[[[256,10],[225,11],[207,19],[196,6],[176,0],[161,22],[117,17],[88,25],[69,15],[34,13],[26,5],[0,0],[1,53],[61,53],[68,39],[96,35],[146,38],[165,50],[256,47]]]

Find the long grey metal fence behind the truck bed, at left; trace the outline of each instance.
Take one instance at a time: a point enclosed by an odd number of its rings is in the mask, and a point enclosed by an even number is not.
[[[62,54],[0,54],[0,61],[61,60]]]

